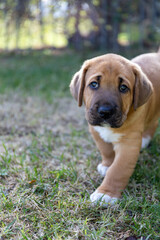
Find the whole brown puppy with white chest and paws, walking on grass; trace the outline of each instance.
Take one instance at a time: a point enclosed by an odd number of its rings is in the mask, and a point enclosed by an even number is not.
[[[84,101],[90,132],[102,156],[104,176],[91,195],[107,206],[121,196],[132,175],[141,146],[149,144],[160,117],[160,52],[131,61],[106,54],[87,60],[70,84]]]

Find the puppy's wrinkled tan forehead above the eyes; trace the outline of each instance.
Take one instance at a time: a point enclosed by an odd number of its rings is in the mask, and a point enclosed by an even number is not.
[[[130,81],[134,80],[134,73],[130,61],[118,57],[101,57],[90,60],[86,78],[102,75],[107,78],[124,77]]]

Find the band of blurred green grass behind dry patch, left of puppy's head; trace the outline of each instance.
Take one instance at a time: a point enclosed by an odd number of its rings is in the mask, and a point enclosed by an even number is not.
[[[54,95],[63,96],[68,93],[70,78],[75,72],[72,66],[76,68],[80,62],[78,55],[73,58],[71,54],[57,53],[55,56],[48,50],[43,54],[5,55],[1,57],[0,92],[14,89],[23,94],[40,94],[50,100]]]

